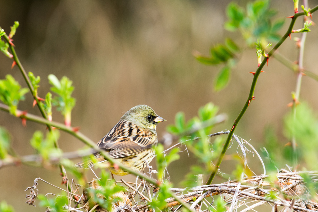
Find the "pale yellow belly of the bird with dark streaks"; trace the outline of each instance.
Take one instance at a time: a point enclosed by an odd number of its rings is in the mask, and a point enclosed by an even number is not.
[[[150,163],[150,161],[152,161],[154,157],[155,157],[155,151],[151,148],[146,151],[143,151],[142,153],[131,155],[124,158],[117,158],[115,160],[133,169],[134,171],[140,171],[143,168],[147,167],[146,161]],[[112,174],[116,174],[120,176],[130,174],[129,172],[121,168],[114,168],[114,166],[110,166],[108,167],[108,169]]]

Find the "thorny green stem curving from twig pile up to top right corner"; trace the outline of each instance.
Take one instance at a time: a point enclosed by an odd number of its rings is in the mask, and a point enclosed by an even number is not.
[[[318,10],[318,5],[315,6],[312,10],[310,10],[311,13],[315,12],[316,10]],[[268,53],[268,58],[270,58],[273,53],[280,47],[280,45],[286,40],[286,38],[289,37],[289,34],[292,32],[293,30],[293,26],[295,24],[295,21],[297,19],[297,17],[299,16],[303,16],[305,15],[304,12],[300,12],[300,13],[296,13],[294,15],[294,17],[292,18],[290,24],[289,24],[289,27],[288,27],[288,30],[287,32],[285,33],[285,35],[280,38],[280,40],[278,41],[278,43],[273,47],[273,49]],[[245,111],[247,110],[247,107],[249,106],[250,102],[252,101],[252,98],[253,98],[253,95],[254,95],[254,91],[255,91],[255,86],[256,86],[256,83],[257,83],[257,79],[259,77],[259,74],[261,73],[261,70],[262,68],[264,67],[264,65],[266,64],[266,59],[267,58],[264,58],[262,63],[259,65],[259,67],[257,68],[255,74],[254,74],[254,78],[253,78],[253,81],[252,81],[252,85],[251,85],[251,89],[250,89],[250,93],[248,95],[248,98],[247,98],[247,101],[245,102],[245,105],[243,106],[243,109],[241,110],[241,112],[239,113],[238,117],[236,118],[236,120],[234,120],[234,123],[233,123],[233,126],[231,128],[231,131],[229,133],[229,135],[227,136],[227,139],[225,141],[225,144],[224,144],[224,147],[222,149],[222,152],[220,153],[219,155],[219,158],[218,158],[218,161],[216,163],[216,166],[214,167],[214,169],[212,170],[212,173],[209,177],[209,180],[207,181],[207,185],[208,184],[211,184],[212,180],[214,179],[215,175],[217,174],[218,172],[218,168],[220,167],[221,165],[221,162],[223,160],[223,157],[225,155],[225,152],[227,150],[227,148],[229,147],[229,144],[230,144],[230,141],[232,139],[232,135],[236,129],[236,126],[238,125],[239,121],[241,120],[241,118],[243,117]]]

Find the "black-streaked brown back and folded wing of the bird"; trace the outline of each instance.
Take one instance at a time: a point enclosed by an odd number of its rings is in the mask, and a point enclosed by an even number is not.
[[[120,121],[97,143],[97,147],[109,152],[112,158],[122,158],[141,153],[156,142],[156,132]]]

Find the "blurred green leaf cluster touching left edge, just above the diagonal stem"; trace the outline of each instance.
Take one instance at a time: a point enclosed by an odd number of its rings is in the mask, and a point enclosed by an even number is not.
[[[0,80],[0,100],[10,107],[10,113],[15,116],[17,105],[20,100],[24,100],[24,94],[27,92],[29,89],[21,88],[10,74],[6,75],[6,79]]]

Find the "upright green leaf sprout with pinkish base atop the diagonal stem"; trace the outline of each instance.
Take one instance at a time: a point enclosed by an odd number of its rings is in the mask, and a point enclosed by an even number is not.
[[[74,90],[74,87],[72,86],[73,82],[66,76],[62,77],[61,80],[58,80],[53,74],[50,74],[48,79],[50,84],[53,85],[51,91],[58,95],[52,99],[53,106],[58,107],[58,110],[64,115],[65,121],[70,125],[71,112],[76,101],[71,96]]]

